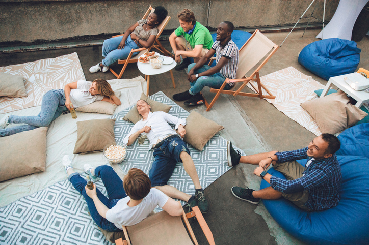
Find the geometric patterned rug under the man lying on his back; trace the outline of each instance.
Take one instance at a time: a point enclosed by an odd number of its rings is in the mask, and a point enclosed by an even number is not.
[[[154,101],[171,105],[172,108],[169,114],[173,116],[186,119],[190,114],[169,99],[162,91],[150,96],[150,98]],[[114,127],[116,141],[123,142],[125,135],[127,135],[134,126],[133,123],[123,120],[124,115],[126,115],[133,106],[113,116],[113,118],[116,118]],[[174,125],[172,125],[172,127],[174,127]],[[136,140],[134,144],[127,147],[127,157],[119,164],[123,172],[127,173],[130,168],[139,168],[146,174],[149,174],[154,157],[152,155],[153,150],[148,150],[148,145],[148,140],[145,140],[145,143],[142,145]],[[203,189],[230,169],[227,164],[227,140],[219,136],[219,134],[216,134],[207,142],[203,151],[199,151],[189,144],[187,144],[187,147],[190,149],[191,157],[195,163],[200,184]],[[194,184],[190,176],[184,171],[182,163],[177,163],[168,181],[168,185],[174,186],[184,193],[190,195],[195,194]],[[182,202],[182,204],[184,204],[184,202]]]

